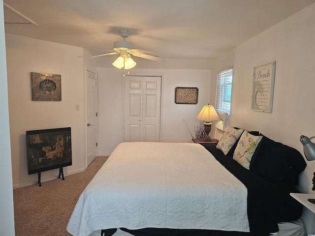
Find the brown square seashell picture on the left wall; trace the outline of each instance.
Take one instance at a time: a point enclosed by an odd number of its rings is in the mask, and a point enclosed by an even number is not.
[[[61,75],[31,73],[32,101],[61,101]]]

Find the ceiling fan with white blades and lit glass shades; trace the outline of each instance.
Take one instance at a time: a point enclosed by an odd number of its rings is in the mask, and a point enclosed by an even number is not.
[[[105,51],[112,51],[111,53],[96,55],[90,58],[120,54],[120,56],[113,62],[113,65],[119,69],[122,69],[122,68],[131,69],[137,64],[131,58],[130,55],[139,57],[139,58],[154,60],[158,62],[163,61],[163,59],[157,56],[148,55],[148,54],[154,54],[155,52],[153,51],[144,50],[144,49],[134,49],[134,44],[126,41],[126,37],[128,37],[130,34],[128,30],[124,29],[124,30],[120,30],[119,32],[120,32],[120,35],[124,38],[124,40],[114,42],[114,50],[101,49]]]

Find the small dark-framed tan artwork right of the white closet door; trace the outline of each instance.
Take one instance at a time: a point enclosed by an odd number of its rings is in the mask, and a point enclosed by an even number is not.
[[[175,88],[176,104],[197,104],[198,88],[176,87]]]

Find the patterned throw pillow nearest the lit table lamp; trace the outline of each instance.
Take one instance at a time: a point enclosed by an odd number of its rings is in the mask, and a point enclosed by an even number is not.
[[[224,155],[226,155],[242,135],[243,131],[243,129],[234,129],[232,126],[228,127],[219,140],[217,148],[220,149]]]

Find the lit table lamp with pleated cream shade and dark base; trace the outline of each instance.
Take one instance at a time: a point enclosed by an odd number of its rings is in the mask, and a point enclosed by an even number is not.
[[[204,120],[204,126],[205,126],[205,137],[204,137],[204,141],[210,141],[211,138],[209,137],[209,133],[211,131],[211,121],[213,120],[219,120],[219,116],[216,112],[216,110],[214,109],[213,106],[209,105],[205,105],[202,110],[200,111],[199,115],[197,116],[197,119],[199,120]]]

